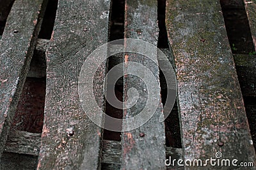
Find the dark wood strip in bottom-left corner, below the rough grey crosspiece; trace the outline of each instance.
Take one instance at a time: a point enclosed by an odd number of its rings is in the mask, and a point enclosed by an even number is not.
[[[33,155],[3,152],[0,169],[34,170],[36,169],[37,162],[38,158]]]

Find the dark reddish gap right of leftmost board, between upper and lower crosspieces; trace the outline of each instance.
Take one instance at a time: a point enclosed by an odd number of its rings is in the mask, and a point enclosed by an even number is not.
[[[13,118],[13,129],[42,133],[46,88],[45,74],[45,52],[35,50]]]

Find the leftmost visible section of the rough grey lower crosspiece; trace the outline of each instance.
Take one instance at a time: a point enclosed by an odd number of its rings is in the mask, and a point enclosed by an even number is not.
[[[4,151],[37,156],[40,144],[41,134],[12,130],[10,135],[8,135]]]

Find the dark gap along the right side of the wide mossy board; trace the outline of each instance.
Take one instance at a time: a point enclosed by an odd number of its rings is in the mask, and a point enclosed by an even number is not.
[[[220,0],[228,41],[234,54],[237,77],[243,94],[244,107],[256,148],[256,62],[252,34],[243,0]],[[254,59],[254,61],[253,61]]]

